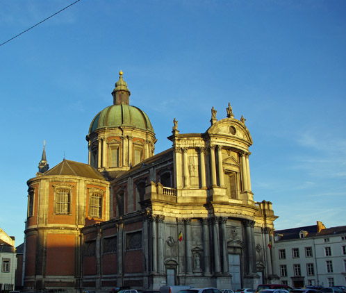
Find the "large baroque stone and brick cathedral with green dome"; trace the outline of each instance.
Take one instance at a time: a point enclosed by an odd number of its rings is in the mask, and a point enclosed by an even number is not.
[[[24,290],[236,290],[277,278],[277,216],[254,201],[245,119],[230,103],[219,120],[211,109],[204,133],[180,133],[174,119],[172,147],[154,154],[154,128],[130,94],[120,72],[86,135],[88,164],[49,169],[43,149],[27,182]]]

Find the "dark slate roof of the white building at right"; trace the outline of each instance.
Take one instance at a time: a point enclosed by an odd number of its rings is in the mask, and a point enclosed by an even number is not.
[[[282,237],[280,237],[278,241],[284,241],[284,240],[294,240],[299,239],[299,233],[301,231],[306,231],[308,234],[305,235],[304,238],[309,237],[322,237],[322,236],[330,236],[330,235],[337,235],[337,234],[346,234],[346,226],[337,226],[337,227],[331,227],[331,228],[324,228],[321,229],[320,232],[318,232],[318,226],[312,225],[312,226],[303,226],[303,227],[297,227],[297,228],[290,228],[285,230],[277,230],[274,231],[274,234],[281,234]]]

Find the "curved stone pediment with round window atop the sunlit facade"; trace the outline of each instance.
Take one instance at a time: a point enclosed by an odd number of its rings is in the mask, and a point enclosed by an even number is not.
[[[210,136],[226,135],[236,140],[242,140],[243,142],[249,144],[249,146],[252,145],[252,137],[247,127],[238,119],[221,119],[208,128],[206,133],[208,133]]]

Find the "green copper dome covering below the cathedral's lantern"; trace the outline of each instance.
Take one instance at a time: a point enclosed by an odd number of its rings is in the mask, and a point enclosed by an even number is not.
[[[90,124],[89,134],[101,128],[134,127],[143,131],[151,131],[154,128],[142,110],[126,104],[112,105],[99,112]]]

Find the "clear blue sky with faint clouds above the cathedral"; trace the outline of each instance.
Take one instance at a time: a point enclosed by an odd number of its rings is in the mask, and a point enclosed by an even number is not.
[[[74,1],[0,0],[0,43]],[[85,135],[113,103],[154,126],[156,153],[181,133],[244,115],[256,201],[275,228],[346,225],[346,1],[81,0],[0,47],[0,228],[24,239],[27,185],[49,166],[88,162]]]

